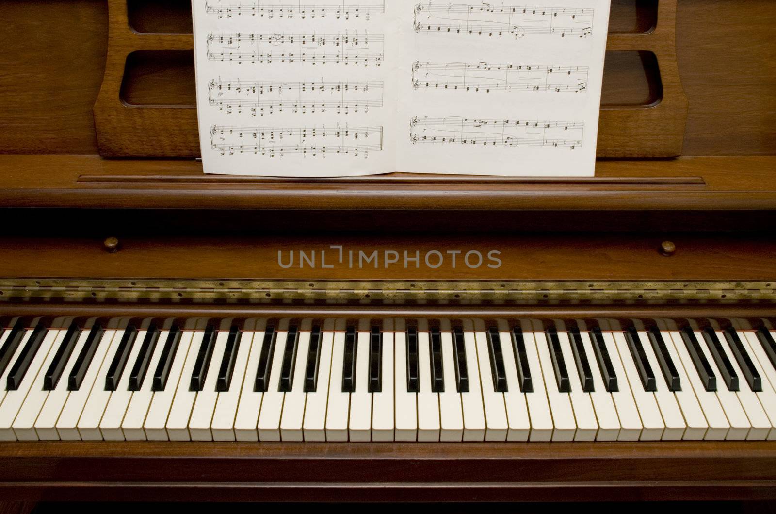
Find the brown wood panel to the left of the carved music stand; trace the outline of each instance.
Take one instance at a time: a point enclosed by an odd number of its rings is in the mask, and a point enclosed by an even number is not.
[[[99,0],[0,6],[0,154],[94,154],[94,106],[106,59]]]

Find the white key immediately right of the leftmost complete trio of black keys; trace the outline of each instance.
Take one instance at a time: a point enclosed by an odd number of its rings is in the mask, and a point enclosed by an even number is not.
[[[146,437],[149,441],[166,441],[169,439],[166,425],[172,403],[175,400],[175,393],[178,391],[178,388],[185,388],[189,385],[184,379],[183,370],[185,363],[188,362],[189,354],[196,353],[191,351],[193,337],[194,332],[182,332],[181,340],[178,342],[178,350],[175,352],[175,357],[170,367],[170,374],[167,377],[165,391],[156,391],[154,398],[151,400],[151,407],[148,408],[148,415],[144,424]],[[196,359],[196,356],[192,358],[192,366],[194,359]],[[191,370],[189,370],[190,378]]]

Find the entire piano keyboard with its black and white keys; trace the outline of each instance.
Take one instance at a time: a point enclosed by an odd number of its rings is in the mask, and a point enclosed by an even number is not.
[[[0,439],[776,439],[776,333],[658,325],[16,318]]]

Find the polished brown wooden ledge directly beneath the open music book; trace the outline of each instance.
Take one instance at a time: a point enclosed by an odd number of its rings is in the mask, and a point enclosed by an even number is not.
[[[282,210],[769,210],[774,157],[598,161],[595,179],[234,179],[183,160],[0,156],[3,207]],[[45,180],[40,180],[45,176]]]

